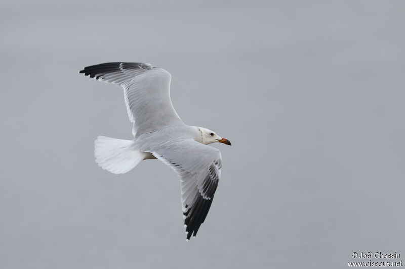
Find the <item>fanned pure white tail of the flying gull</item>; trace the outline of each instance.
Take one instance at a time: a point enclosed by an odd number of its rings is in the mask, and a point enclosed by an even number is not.
[[[134,140],[115,139],[105,136],[94,141],[96,163],[114,174],[124,174],[136,167],[146,153],[135,147]]]

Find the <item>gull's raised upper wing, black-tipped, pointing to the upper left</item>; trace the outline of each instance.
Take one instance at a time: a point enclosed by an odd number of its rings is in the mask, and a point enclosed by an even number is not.
[[[79,73],[124,88],[134,136],[183,123],[170,99],[172,76],[164,69],[144,63],[117,62],[88,66]]]

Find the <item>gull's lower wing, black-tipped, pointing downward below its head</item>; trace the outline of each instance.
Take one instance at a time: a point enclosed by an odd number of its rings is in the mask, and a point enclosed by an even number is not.
[[[221,175],[221,152],[194,140],[169,141],[150,152],[181,179],[187,239],[195,237],[210,210]]]

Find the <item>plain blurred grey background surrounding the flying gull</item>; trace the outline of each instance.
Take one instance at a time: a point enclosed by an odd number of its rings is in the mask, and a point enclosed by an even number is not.
[[[0,267],[346,268],[353,251],[405,255],[404,12],[3,1]],[[111,61],[165,68],[184,122],[232,141],[213,145],[222,178],[190,242],[169,167],[117,176],[94,162],[98,135],[131,138],[122,90],[77,74]]]

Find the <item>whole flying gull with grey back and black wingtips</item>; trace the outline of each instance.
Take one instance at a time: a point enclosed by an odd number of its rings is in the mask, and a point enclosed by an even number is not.
[[[94,142],[96,163],[123,174],[142,160],[159,159],[180,177],[187,241],[195,237],[210,210],[221,175],[221,152],[208,144],[229,140],[215,132],[183,123],[170,99],[172,76],[146,63],[104,63],[79,71],[85,76],[124,88],[133,123],[132,140],[99,136]]]

